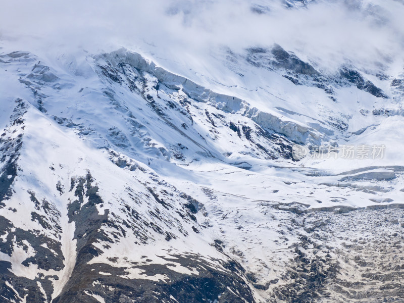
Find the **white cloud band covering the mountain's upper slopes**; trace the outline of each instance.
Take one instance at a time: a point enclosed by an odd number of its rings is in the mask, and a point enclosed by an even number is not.
[[[318,1],[299,9],[281,0],[20,0],[3,4],[0,32],[25,49],[127,46],[177,58],[278,43],[323,68],[373,68],[401,57],[402,16],[404,5],[395,0]]]

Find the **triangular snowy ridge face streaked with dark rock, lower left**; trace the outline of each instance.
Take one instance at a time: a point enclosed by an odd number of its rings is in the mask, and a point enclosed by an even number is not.
[[[2,135],[3,298],[253,300],[242,268],[204,236],[195,217],[203,205],[143,164],[87,144],[83,127],[44,114],[52,110],[48,93],[63,89],[55,83],[61,78],[30,56],[8,56],[9,71],[13,61],[18,68],[34,64],[28,70],[36,73],[27,74],[32,82],[20,80],[41,92],[11,103]],[[124,146],[112,131],[105,138]],[[184,293],[189,287],[199,290]]]

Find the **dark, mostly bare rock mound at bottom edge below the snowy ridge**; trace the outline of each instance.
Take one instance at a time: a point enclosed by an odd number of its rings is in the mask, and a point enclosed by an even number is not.
[[[97,263],[83,264],[79,272],[72,274],[66,291],[54,301],[87,302],[91,301],[89,294],[92,294],[116,302],[200,302],[217,299],[224,302],[255,302],[249,286],[240,278],[242,271],[238,264],[223,264],[226,271],[222,272],[217,270],[217,265],[213,267],[213,263],[201,257],[172,255],[166,259],[199,273],[195,275],[172,270],[175,267],[173,263],[164,266],[147,259],[130,267],[131,272],[140,273],[137,279],[126,278],[127,269]]]

